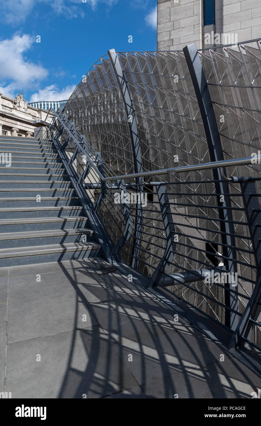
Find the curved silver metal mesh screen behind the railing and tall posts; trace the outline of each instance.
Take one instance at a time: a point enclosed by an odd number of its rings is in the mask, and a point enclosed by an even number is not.
[[[261,150],[260,41],[233,49],[204,50],[199,55],[224,159],[248,157]],[[210,161],[199,104],[183,52],[119,52],[116,58],[134,110],[142,170]],[[123,95],[119,75],[110,55],[105,55],[86,74],[65,106],[77,130],[85,135],[94,151],[101,153],[116,176],[135,173],[136,153]],[[255,164],[228,170],[230,175],[261,177]],[[222,224],[229,221],[221,219],[224,207],[218,204],[218,198],[222,194],[216,191],[212,170],[153,176],[153,182],[143,182],[148,205],[131,207],[132,230],[128,238],[122,244],[119,238],[114,239],[125,262],[151,277],[165,256],[168,236],[156,184],[165,182],[166,202],[179,236],[165,273],[221,268],[227,260]],[[125,184],[129,183],[135,184],[135,180],[125,179]],[[256,185],[260,193],[259,181]],[[238,272],[238,311],[242,313],[255,285],[256,265],[239,184],[229,184],[227,197],[233,216],[230,222],[235,239],[233,262]],[[113,220],[119,226],[116,216]],[[137,232],[140,226],[141,233]],[[210,317],[225,322],[222,286],[196,281],[189,285],[170,284],[169,289]],[[255,327],[253,339],[259,341],[259,326]]]

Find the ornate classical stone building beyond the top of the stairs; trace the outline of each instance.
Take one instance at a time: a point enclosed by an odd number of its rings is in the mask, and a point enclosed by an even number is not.
[[[22,92],[15,99],[0,93],[0,135],[32,137],[46,115],[45,109],[29,106]]]

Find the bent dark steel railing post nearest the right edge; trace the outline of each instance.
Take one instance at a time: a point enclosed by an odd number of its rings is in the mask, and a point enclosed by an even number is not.
[[[252,328],[254,324],[251,320],[257,321],[258,315],[261,311],[261,212],[258,203],[258,197],[256,196],[255,182],[246,181],[247,178],[235,178],[240,181],[242,198],[244,201],[244,207],[247,216],[247,222],[249,224],[250,237],[252,242],[252,249],[255,257],[256,265],[256,282],[255,288],[250,296],[246,308],[242,314],[238,326],[235,329],[233,337],[230,340],[229,348],[236,348],[237,346],[244,346],[246,341],[249,340],[252,334]]]

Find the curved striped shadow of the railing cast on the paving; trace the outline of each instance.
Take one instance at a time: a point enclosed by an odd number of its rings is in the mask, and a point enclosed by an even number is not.
[[[78,267],[60,267],[77,292],[77,305],[57,397],[113,397],[122,391],[121,398],[250,397],[255,384],[247,368],[229,354],[220,362],[224,350],[188,323],[175,324],[171,311],[134,283],[117,272],[88,268],[82,260]],[[88,328],[79,329],[82,303],[93,317]],[[79,345],[86,357],[82,371],[74,368]]]

